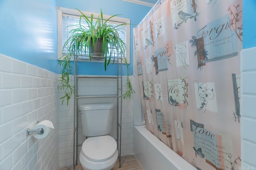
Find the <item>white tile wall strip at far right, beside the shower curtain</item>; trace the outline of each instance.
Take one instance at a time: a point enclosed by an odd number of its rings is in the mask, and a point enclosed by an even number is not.
[[[246,169],[256,168],[256,47],[241,51],[241,159]]]

